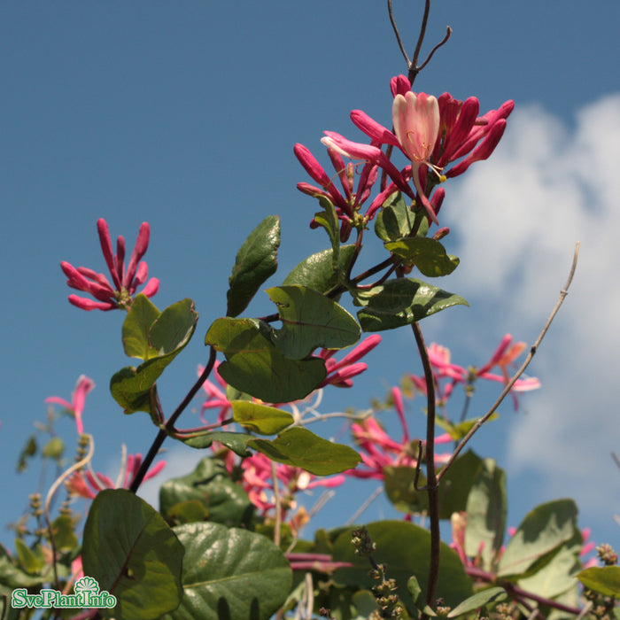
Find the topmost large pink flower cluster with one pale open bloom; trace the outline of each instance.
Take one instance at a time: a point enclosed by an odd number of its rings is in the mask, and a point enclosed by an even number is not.
[[[322,143],[328,147],[337,174],[345,187],[345,198],[337,191],[329,176],[306,147],[297,144],[295,154],[314,181],[319,182],[322,190],[299,183],[298,189],[313,196],[325,196],[337,206],[337,213],[345,221],[341,229],[350,230],[351,226],[364,225],[376,213],[386,198],[396,190],[422,205],[430,221],[438,223],[437,213],[444,194],[439,192],[431,197],[433,189],[439,182],[464,173],[475,161],[487,159],[500,142],[506,128],[506,119],[515,107],[513,101],[507,101],[498,110],[478,116],[477,97],[460,101],[449,93],[433,97],[425,93],[411,91],[411,83],[405,75],[391,79],[393,131],[385,128],[361,110],[351,112],[351,120],[369,138],[370,143],[356,143],[333,131],[326,131]],[[397,147],[411,161],[409,166],[399,170],[381,147]],[[353,167],[345,166],[340,154],[349,159],[361,159],[365,162],[360,174],[360,189],[353,194]],[[457,162],[457,163],[454,163]],[[454,166],[446,169],[451,163]],[[361,205],[369,195],[369,178],[376,178],[376,168],[382,168],[391,178],[391,185],[385,188],[368,207],[365,219],[356,218]],[[371,173],[375,174],[371,177]],[[346,180],[346,183],[345,183]],[[412,189],[409,181],[413,180]],[[437,192],[435,192],[437,193]],[[345,236],[348,233],[345,232]]]

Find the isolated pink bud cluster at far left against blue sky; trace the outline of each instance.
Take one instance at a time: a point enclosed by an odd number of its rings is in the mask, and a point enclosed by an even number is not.
[[[82,310],[113,310],[114,308],[128,309],[131,306],[132,295],[136,293],[138,286],[146,282],[148,267],[142,261],[143,255],[149,246],[151,231],[149,224],[143,222],[140,225],[134,251],[131,252],[127,269],[125,268],[125,239],[119,236],[116,242],[116,254],[112,254],[112,239],[107,222],[101,218],[97,221],[97,231],[101,249],[104,252],[105,262],[112,275],[112,283],[103,274],[97,274],[88,267],[74,267],[63,261],[60,267],[68,278],[67,284],[92,295],[97,301],[82,298],[78,295],[70,295],[69,301]],[[159,280],[151,278],[142,293],[146,297],[152,297],[159,291]]]

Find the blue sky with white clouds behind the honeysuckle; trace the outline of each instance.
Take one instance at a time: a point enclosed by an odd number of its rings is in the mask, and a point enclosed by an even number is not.
[[[394,4],[411,50],[422,3]],[[471,307],[422,323],[429,342],[449,346],[463,365],[484,363],[506,332],[531,343],[582,242],[574,288],[531,367],[543,390],[520,413],[503,407],[474,448],[508,470],[510,524],[539,501],[571,496],[581,525],[612,544],[620,539],[620,471],[609,456],[620,452],[619,18],[615,0],[588,8],[434,3],[423,50],[448,24],[453,36],[415,84],[477,96],[483,111],[516,103],[492,159],[446,184],[441,222],[453,230],[446,247],[461,266],[441,284]],[[123,416],[107,390],[128,363],[122,315],[69,306],[59,262],[104,271],[97,219],[129,244],[140,222],[150,222],[146,260],[161,280],[155,303],[190,297],[201,315],[194,341],[162,381],[169,411],[205,363],[202,339],[225,312],[229,269],[249,231],[267,214],[281,216],[282,277],[325,246],[322,231],[307,227],[315,205],[295,188],[308,179],[293,144],[325,162],[324,129],[362,137],[352,109],[389,125],[389,80],[405,66],[377,0],[4,3],[0,58],[6,523],[37,484],[35,472],[13,472],[33,422],[44,418],[43,399],[68,398],[81,374],[97,384],[84,415],[97,469],[113,469],[121,443],[145,453],[153,434],[145,416]],[[369,254],[379,257],[378,246]],[[251,310],[271,312],[267,296]],[[419,372],[413,342],[401,334],[387,335],[368,362],[356,390],[325,393],[325,411],[367,407],[402,373]],[[420,434],[419,405],[407,412]],[[73,439],[68,420],[58,430]],[[187,469],[198,454],[169,457],[170,475],[173,461]],[[386,508],[378,502],[366,518]],[[325,510],[322,525],[350,515],[337,498]],[[5,531],[0,538],[10,540]]]

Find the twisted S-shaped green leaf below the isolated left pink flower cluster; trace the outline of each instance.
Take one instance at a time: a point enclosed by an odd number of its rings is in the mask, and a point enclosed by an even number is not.
[[[198,313],[191,299],[182,299],[159,314],[148,335],[149,359],[137,368],[121,368],[110,380],[112,397],[126,414],[151,410],[151,388],[167,365],[182,352],[196,329]]]

